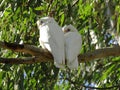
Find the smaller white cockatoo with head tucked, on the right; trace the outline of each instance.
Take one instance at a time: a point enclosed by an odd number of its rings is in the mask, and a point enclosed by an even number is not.
[[[65,36],[65,58],[70,69],[78,69],[78,55],[82,47],[82,38],[73,25],[62,28]]]

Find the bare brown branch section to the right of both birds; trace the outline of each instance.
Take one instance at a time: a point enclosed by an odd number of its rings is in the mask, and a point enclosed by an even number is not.
[[[120,47],[97,49],[92,52],[79,55],[79,62],[87,62],[109,56],[120,56]]]

